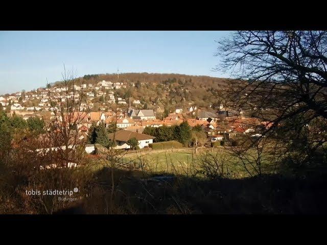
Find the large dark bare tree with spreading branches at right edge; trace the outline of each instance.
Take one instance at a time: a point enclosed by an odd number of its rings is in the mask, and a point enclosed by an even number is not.
[[[238,31],[218,44],[216,55],[222,59],[216,68],[230,71],[235,79],[214,94],[242,116],[269,125],[261,127],[258,140],[274,137],[290,145],[296,138],[303,139],[303,131],[309,129],[315,135],[309,138],[319,138],[311,141],[311,149],[323,147],[327,141],[323,130],[327,122],[326,31]]]

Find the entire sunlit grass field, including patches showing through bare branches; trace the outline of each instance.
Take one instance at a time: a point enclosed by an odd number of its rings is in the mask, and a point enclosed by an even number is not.
[[[251,163],[247,164],[252,176],[258,174],[255,173],[254,167],[251,166],[255,162],[255,154],[254,151],[249,151],[249,156],[247,156],[247,159],[251,160]],[[93,159],[93,162],[95,163],[94,170],[107,166],[102,159]],[[266,160],[262,160],[263,165],[266,165],[266,162]],[[221,176],[227,178],[239,179],[251,176],[240,159],[230,155],[223,146],[199,148],[197,154],[194,153],[193,148],[127,151],[122,154],[120,163],[126,167],[141,170],[143,174],[147,175],[171,174],[215,178],[217,177],[214,176],[217,174],[217,169],[221,168],[219,169],[219,171],[223,171]]]

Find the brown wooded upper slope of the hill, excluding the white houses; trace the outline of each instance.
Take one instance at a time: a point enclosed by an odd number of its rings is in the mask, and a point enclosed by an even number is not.
[[[75,82],[96,85],[100,81],[120,82],[126,88],[114,89],[115,97],[122,97],[127,102],[140,100],[140,109],[159,109],[175,111],[177,108],[187,109],[190,106],[211,109],[217,103],[211,90],[222,89],[228,79],[208,76],[190,76],[183,74],[149,74],[149,73],[124,73],[85,75],[76,78]],[[58,84],[54,83],[56,86]],[[105,92],[105,90],[103,89]],[[96,98],[93,103],[106,102],[107,98]],[[160,114],[160,113],[159,113]]]

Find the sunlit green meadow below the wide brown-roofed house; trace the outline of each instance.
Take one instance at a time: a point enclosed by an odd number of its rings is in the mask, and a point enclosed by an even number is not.
[[[209,157],[206,153],[209,153]],[[149,175],[172,174],[202,178],[204,177],[202,166],[209,162],[210,164],[223,163],[223,169],[225,173],[228,172],[229,178],[247,176],[245,169],[237,164],[237,159],[230,156],[223,147],[198,149],[197,154],[192,148],[140,151],[127,153],[122,160],[133,162],[134,166]]]

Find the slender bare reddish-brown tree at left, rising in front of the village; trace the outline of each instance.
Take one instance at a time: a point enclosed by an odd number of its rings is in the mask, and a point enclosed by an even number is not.
[[[88,109],[81,107],[83,89],[76,90],[76,75],[74,69],[62,74],[62,81],[59,83],[59,96],[49,89],[48,97],[53,111],[53,118],[46,124],[45,138],[56,151],[56,158],[60,158],[62,167],[69,167],[73,163],[77,165],[83,157],[85,139],[81,137],[79,126],[87,119]],[[60,155],[60,156],[59,156]]]

